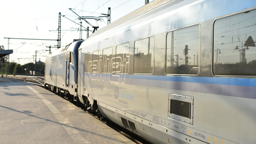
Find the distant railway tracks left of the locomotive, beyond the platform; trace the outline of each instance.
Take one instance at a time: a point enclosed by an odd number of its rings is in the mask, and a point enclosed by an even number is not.
[[[4,77],[18,79],[26,81],[31,84],[36,84],[39,86],[44,86],[44,76],[21,76],[21,75],[5,75]]]

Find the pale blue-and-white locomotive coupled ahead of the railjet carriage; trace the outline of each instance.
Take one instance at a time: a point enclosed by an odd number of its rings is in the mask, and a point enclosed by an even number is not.
[[[50,53],[45,60],[44,86],[67,99],[76,101],[78,48],[76,41]]]

